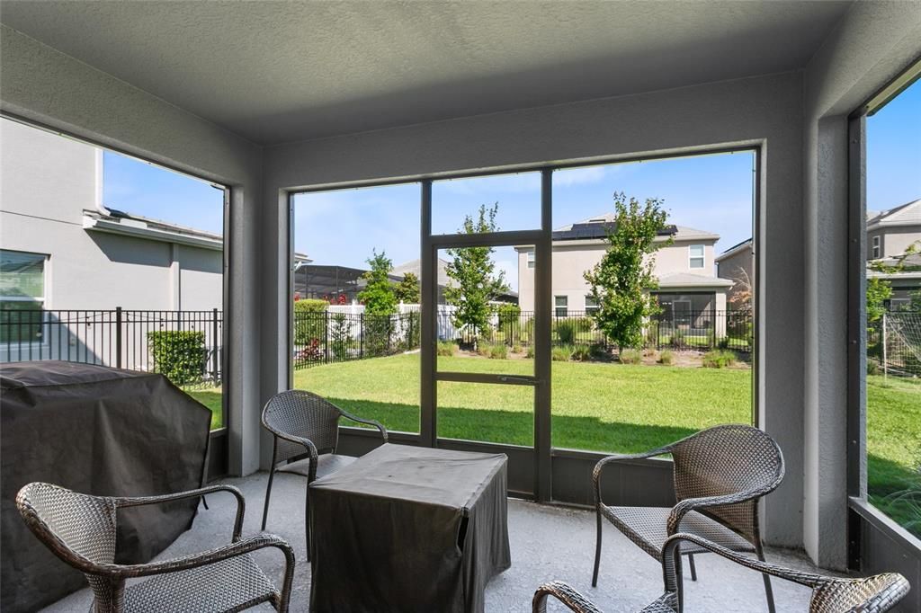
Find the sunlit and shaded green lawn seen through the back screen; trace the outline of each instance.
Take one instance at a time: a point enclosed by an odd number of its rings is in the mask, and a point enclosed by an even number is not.
[[[438,357],[442,371],[533,373],[531,360]],[[315,391],[391,430],[419,430],[419,355],[326,364],[297,371],[295,387]],[[554,446],[634,452],[709,425],[751,422],[752,372],[626,364],[554,362]],[[438,384],[438,435],[531,445],[533,390],[524,386]]]

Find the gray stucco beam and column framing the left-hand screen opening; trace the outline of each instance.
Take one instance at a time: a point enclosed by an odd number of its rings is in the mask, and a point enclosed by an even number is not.
[[[231,188],[227,334],[230,469],[258,467],[257,254],[262,149],[0,26],[0,110]]]

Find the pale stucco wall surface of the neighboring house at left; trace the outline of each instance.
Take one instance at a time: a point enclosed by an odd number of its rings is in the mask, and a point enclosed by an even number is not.
[[[0,247],[49,256],[44,306],[221,308],[220,251],[83,228],[100,166],[97,147],[0,120]]]

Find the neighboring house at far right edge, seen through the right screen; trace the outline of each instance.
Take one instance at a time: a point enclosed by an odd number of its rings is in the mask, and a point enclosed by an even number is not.
[[[867,271],[869,277],[886,279],[892,285],[891,308],[907,305],[911,295],[921,291],[921,255],[899,258],[915,244],[921,249],[921,199],[867,214],[867,260],[888,266],[902,264],[901,272]]]

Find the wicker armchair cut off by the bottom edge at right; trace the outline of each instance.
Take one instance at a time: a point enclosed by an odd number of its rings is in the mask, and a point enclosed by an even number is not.
[[[665,543],[665,593],[647,607],[640,609],[639,613],[679,613],[682,610],[682,588],[675,577],[681,576],[681,549],[689,545],[695,549],[712,551],[759,573],[810,587],[812,596],[809,613],[883,613],[908,594],[909,584],[904,576],[898,573],[883,573],[861,579],[841,579],[816,573],[803,573],[753,560],[705,538],[679,533]],[[600,608],[592,604],[588,598],[579,594],[572,586],[559,581],[542,584],[537,589],[531,602],[533,613],[544,613],[547,609],[547,600],[551,596],[576,613],[600,613]]]

